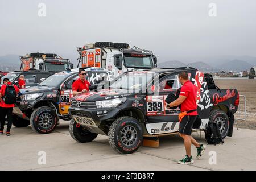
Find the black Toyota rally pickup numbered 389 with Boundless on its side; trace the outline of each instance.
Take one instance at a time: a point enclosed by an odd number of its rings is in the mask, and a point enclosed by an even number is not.
[[[197,87],[199,129],[209,122],[220,126],[225,138],[233,133],[233,114],[239,104],[236,89],[218,89],[211,75],[194,68],[130,71],[119,76],[109,89],[73,98],[69,131],[78,142],[92,142],[98,134],[108,135],[110,146],[123,154],[138,150],[142,138],[179,132],[179,109],[166,109],[165,99],[180,88],[178,74],[188,72]]]

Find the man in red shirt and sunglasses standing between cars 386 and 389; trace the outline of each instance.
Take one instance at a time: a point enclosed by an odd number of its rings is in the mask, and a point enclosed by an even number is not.
[[[73,95],[76,96],[80,93],[85,93],[89,91],[90,83],[85,79],[86,72],[84,69],[79,69],[79,78],[73,82],[72,91]]]

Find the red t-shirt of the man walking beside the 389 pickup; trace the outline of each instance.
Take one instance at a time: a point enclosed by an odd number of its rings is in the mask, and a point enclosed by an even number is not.
[[[181,90],[180,90],[180,96],[185,96],[187,98],[181,104],[181,108],[180,108],[181,112],[197,109],[196,92],[197,92],[196,86],[193,85],[191,81],[187,81],[184,83],[184,85],[181,87]],[[197,115],[197,111],[188,113],[187,115]]]

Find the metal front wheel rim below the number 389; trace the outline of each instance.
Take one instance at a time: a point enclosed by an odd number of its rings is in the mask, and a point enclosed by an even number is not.
[[[133,126],[126,126],[121,131],[121,141],[126,147],[132,146],[137,140],[137,131]]]

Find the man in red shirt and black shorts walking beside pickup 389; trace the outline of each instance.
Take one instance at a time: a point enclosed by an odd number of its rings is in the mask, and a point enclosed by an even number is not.
[[[180,111],[181,115],[183,114],[184,117],[181,119],[179,133],[180,137],[184,140],[184,145],[186,149],[187,155],[184,159],[179,160],[179,164],[192,164],[194,163],[192,156],[191,156],[191,144],[196,146],[197,148],[197,156],[196,158],[199,159],[206,148],[204,144],[199,144],[196,140],[191,136],[193,124],[197,119],[197,88],[195,85],[189,81],[188,73],[181,72],[179,74],[179,82],[181,85],[180,95],[177,100],[167,104],[166,107],[174,107],[181,105]]]

